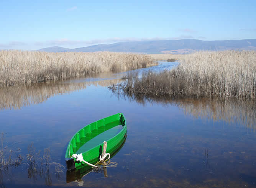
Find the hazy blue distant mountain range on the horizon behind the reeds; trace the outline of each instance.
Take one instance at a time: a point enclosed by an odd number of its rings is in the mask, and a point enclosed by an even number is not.
[[[190,53],[193,51],[210,50],[222,51],[228,49],[256,50],[256,39],[225,40],[225,41],[202,41],[197,39],[182,40],[157,40],[157,41],[133,41],[114,44],[98,44],[94,46],[80,47],[75,49],[59,46],[47,47],[38,51],[45,52],[133,52],[146,54],[159,53]]]

